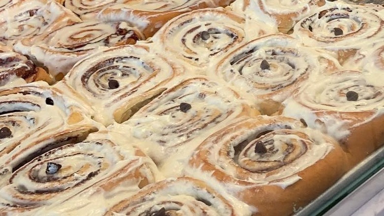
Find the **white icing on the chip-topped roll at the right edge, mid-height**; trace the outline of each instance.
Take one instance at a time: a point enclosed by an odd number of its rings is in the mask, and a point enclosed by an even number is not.
[[[341,140],[350,134],[351,127],[383,114],[384,82],[378,78],[382,76],[381,73],[342,71],[313,77],[297,90],[293,98],[284,103],[283,115],[302,118],[310,127],[323,130]],[[358,94],[356,101],[347,100],[346,94],[349,91]],[[341,117],[343,113],[355,112],[369,114],[365,119]],[[319,120],[324,125],[319,124]]]

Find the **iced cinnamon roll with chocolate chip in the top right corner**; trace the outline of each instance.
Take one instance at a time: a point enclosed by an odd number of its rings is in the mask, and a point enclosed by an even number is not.
[[[351,58],[369,41],[383,37],[383,6],[377,4],[348,4],[328,2],[298,22],[293,36],[304,45],[329,51],[341,63]]]

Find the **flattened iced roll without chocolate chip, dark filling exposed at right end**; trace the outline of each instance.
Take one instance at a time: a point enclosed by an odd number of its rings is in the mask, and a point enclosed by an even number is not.
[[[58,28],[38,37],[38,41],[22,40],[15,50],[32,56],[61,80],[75,63],[101,47],[135,44],[142,34],[125,22],[80,22]]]

